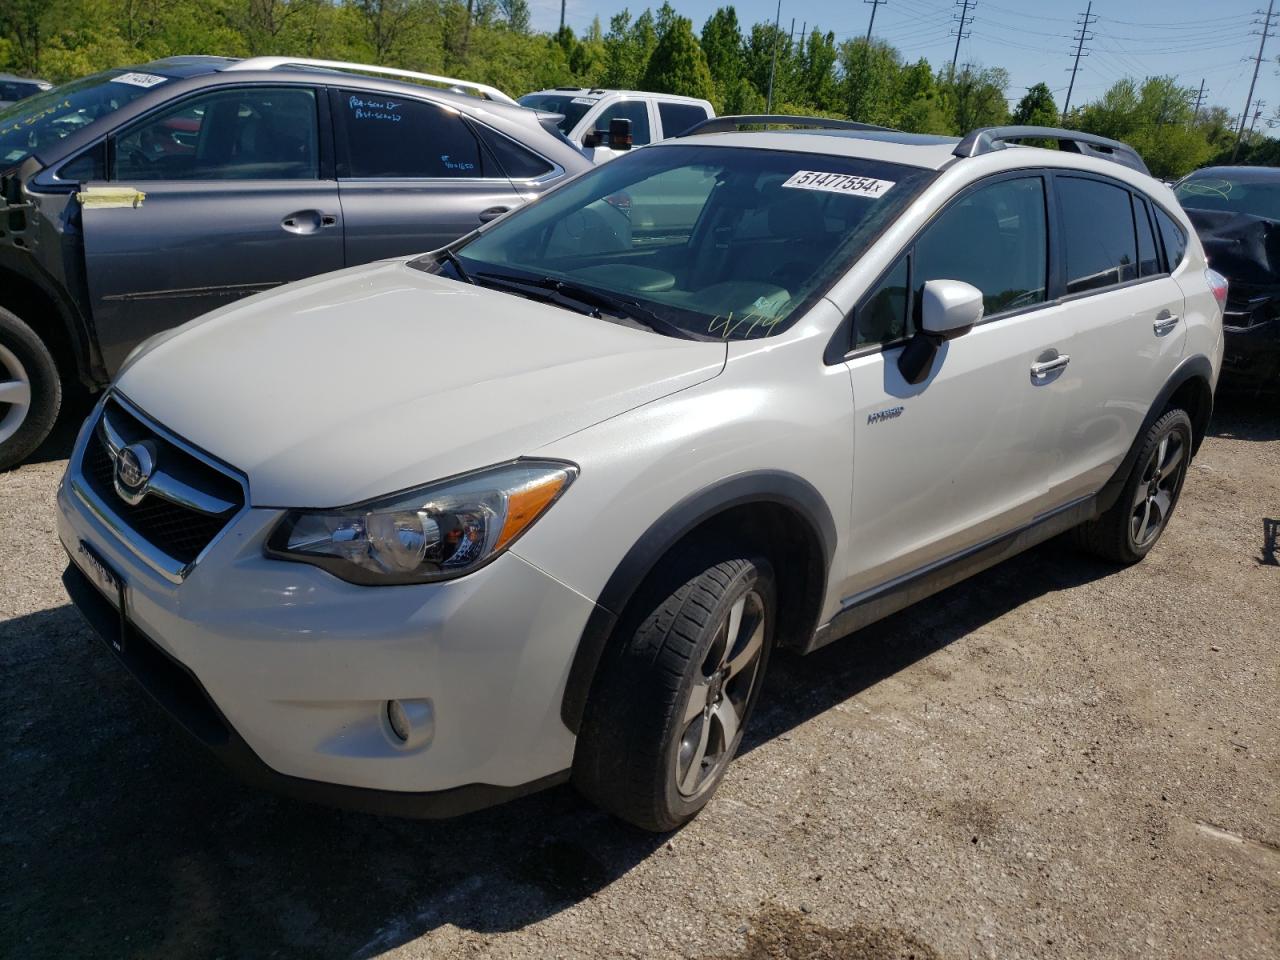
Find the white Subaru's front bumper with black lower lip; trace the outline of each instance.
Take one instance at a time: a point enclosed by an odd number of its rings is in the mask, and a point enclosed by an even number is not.
[[[271,561],[280,512],[250,508],[182,580],[159,575],[70,484],[58,532],[76,605],[183,727],[247,780],[402,815],[452,815],[566,778],[559,704],[594,604],[507,553],[456,581],[362,588]],[[125,616],[77,566],[88,544],[125,582]],[[430,701],[406,746],[390,699]]]

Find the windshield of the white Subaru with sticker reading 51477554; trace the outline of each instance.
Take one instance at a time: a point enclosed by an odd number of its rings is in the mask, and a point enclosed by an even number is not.
[[[559,282],[691,337],[768,337],[801,316],[932,177],[847,156],[658,145],[566,183],[456,253],[477,283]],[[419,265],[434,269],[435,259]]]

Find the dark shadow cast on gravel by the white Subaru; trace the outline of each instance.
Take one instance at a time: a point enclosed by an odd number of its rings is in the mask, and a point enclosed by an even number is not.
[[[813,657],[780,657],[744,749],[1033,596],[1107,572],[1047,544]],[[69,605],[0,623],[0,733],[5,956],[376,956],[445,924],[521,928],[663,842],[568,787],[445,822],[242,787]]]

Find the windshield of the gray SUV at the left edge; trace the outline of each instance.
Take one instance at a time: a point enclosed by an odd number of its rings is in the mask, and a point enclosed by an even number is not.
[[[82,131],[165,79],[150,73],[108,70],[0,110],[0,166],[20,164],[41,147]]]

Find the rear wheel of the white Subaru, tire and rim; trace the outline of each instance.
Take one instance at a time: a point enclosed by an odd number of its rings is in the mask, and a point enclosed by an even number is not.
[[[1120,498],[1097,520],[1073,531],[1075,544],[1114,563],[1137,563],[1151,553],[1181,495],[1193,436],[1184,410],[1170,410],[1152,424]],[[1166,442],[1164,461],[1157,463]],[[1174,457],[1176,462],[1170,463]]]

